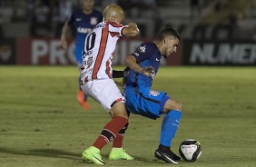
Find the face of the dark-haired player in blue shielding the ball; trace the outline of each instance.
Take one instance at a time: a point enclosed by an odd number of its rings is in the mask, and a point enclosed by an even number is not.
[[[178,38],[173,38],[171,36],[166,37],[164,39],[164,44],[165,44],[165,54],[164,57],[167,58],[169,57],[173,52],[177,51],[177,47],[179,44],[179,39]]]

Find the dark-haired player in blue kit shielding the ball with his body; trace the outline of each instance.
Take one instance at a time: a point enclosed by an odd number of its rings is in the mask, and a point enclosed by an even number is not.
[[[172,100],[167,93],[153,91],[153,77],[157,74],[160,59],[176,52],[180,35],[172,28],[166,28],[154,43],[141,44],[125,58],[128,65],[123,88],[126,109],[152,119],[164,114],[160,145],[155,157],[168,163],[178,163],[181,158],[171,151],[172,139],[182,116],[182,103]]]

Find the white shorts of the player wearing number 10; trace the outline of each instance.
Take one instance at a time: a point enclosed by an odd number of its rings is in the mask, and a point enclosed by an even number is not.
[[[93,80],[81,85],[83,92],[101,103],[104,110],[109,112],[114,103],[125,102],[123,94],[113,79]]]

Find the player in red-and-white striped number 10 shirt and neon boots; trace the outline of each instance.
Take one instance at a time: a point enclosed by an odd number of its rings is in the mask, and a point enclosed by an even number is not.
[[[113,81],[112,60],[116,42],[121,37],[136,36],[139,29],[135,23],[121,25],[124,12],[119,5],[107,5],[103,11],[103,22],[94,27],[84,43],[81,66],[81,88],[84,93],[101,103],[112,120],[106,123],[94,144],[83,152],[84,160],[105,164],[100,155],[104,145],[113,141],[110,160],[133,160],[123,150],[123,135],[128,126],[123,94]]]

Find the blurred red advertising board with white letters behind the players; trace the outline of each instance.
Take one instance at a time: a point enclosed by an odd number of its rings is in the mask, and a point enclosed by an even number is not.
[[[142,43],[153,41],[150,39],[123,39],[117,43],[113,57],[113,64],[124,65],[124,57],[132,54]],[[180,44],[182,45],[182,44]],[[59,48],[59,39],[54,38],[18,38],[16,40],[16,64],[33,65],[72,65],[75,63],[74,40],[68,40],[66,50]],[[168,59],[163,59],[163,65],[182,64],[182,46]]]

